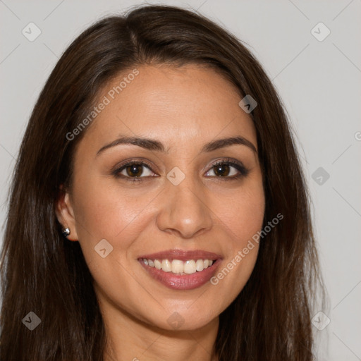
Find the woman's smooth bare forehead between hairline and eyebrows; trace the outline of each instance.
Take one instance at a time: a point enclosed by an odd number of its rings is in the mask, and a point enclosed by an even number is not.
[[[122,134],[147,135],[171,148],[242,135],[257,147],[255,127],[238,106],[240,99],[235,85],[204,66],[131,68],[104,86],[95,105],[106,106],[83,140],[100,144]]]

